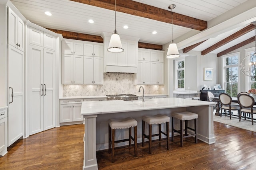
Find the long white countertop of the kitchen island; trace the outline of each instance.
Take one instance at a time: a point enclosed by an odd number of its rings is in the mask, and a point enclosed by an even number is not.
[[[214,106],[215,102],[206,102],[200,100],[189,100],[182,98],[155,98],[142,101],[92,101],[82,102],[81,115],[98,115],[105,113],[118,113],[128,111],[142,111],[152,109],[167,109],[176,107],[190,106]]]

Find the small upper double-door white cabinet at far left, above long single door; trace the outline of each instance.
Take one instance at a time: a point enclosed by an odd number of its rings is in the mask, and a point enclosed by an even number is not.
[[[8,44],[24,51],[24,22],[8,8]]]

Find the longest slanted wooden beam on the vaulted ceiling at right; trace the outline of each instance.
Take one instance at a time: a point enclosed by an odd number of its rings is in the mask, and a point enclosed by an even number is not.
[[[222,39],[221,41],[219,41],[218,43],[215,43],[214,45],[212,45],[211,47],[203,50],[201,52],[202,55],[206,55],[208,53],[210,53],[211,51],[214,51],[215,49],[221,47],[222,45],[225,45],[231,41],[233,41],[234,39],[237,39],[238,37],[241,37],[242,35],[252,31],[253,29],[255,29],[254,24],[250,24],[246,27],[244,27],[243,29],[240,29],[239,31],[237,31],[236,33],[233,33],[232,35],[226,37],[225,39]]]

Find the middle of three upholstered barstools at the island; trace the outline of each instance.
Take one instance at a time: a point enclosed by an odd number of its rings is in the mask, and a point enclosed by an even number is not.
[[[145,122],[148,123],[148,135],[145,134]],[[166,123],[166,133],[162,132],[161,124]],[[152,125],[158,125],[158,133],[152,135]],[[166,141],[167,149],[169,150],[169,130],[170,128],[170,117],[166,115],[146,115],[142,117],[142,147],[145,145],[145,137],[148,139],[148,153],[151,154],[151,145],[152,145],[152,137],[158,136],[158,141],[153,142],[163,142]],[[166,135],[166,139],[161,139],[161,134]]]

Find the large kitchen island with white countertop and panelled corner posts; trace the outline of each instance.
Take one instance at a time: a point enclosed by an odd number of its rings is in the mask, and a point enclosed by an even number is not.
[[[215,143],[213,133],[213,106],[215,104],[182,98],[155,98],[145,102],[122,100],[82,102],[81,115],[84,116],[85,123],[83,169],[98,169],[96,150],[108,148],[108,119],[110,118],[133,117],[136,119],[138,121],[137,138],[140,143],[143,115],[160,113],[171,117],[172,112],[191,111],[198,114],[198,139],[208,144]],[[179,121],[174,121],[174,123],[179,123]],[[157,128],[153,127],[152,131],[157,131]],[[124,137],[127,134],[127,131],[118,132],[117,140],[120,136]]]

